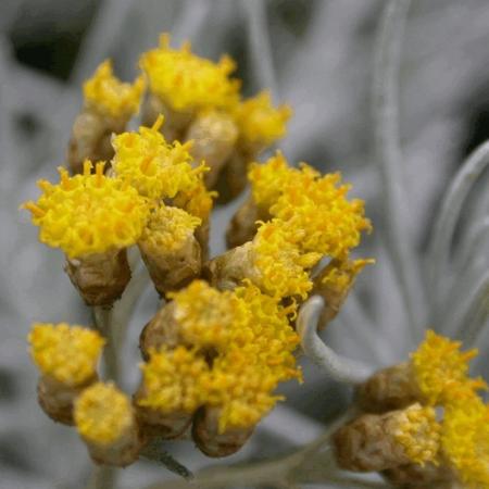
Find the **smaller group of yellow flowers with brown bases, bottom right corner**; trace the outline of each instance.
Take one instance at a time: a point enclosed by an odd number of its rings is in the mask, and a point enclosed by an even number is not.
[[[359,386],[364,414],[334,437],[338,464],[381,472],[397,487],[489,487],[489,405],[468,376],[476,350],[428,330],[409,362]]]

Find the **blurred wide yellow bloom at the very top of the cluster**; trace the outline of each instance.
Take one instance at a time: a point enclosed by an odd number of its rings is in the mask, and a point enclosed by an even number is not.
[[[160,37],[160,47],[143,53],[139,61],[150,89],[177,111],[226,108],[238,100],[239,82],[229,78],[234,61],[223,57],[218,63],[199,58],[186,42],[170,47],[170,37]]]

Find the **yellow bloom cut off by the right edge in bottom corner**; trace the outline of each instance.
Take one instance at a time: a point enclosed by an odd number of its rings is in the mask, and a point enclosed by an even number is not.
[[[441,446],[467,489],[489,488],[489,405],[472,389],[446,408]]]

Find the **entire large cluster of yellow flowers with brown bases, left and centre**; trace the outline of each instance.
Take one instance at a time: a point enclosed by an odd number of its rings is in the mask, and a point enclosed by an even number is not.
[[[60,183],[40,180],[40,198],[24,204],[40,241],[64,252],[88,305],[110,309],[121,298],[130,247],[164,299],[140,334],[131,399],[99,380],[110,338],[65,324],[35,325],[29,336],[42,409],[76,426],[93,461],[118,466],[154,437],[189,435],[210,456],[236,452],[283,399],[278,385],[301,380],[301,302],[323,296],[325,325],[372,262],[350,255],[371,223],[339,174],[290,167],[279,152],[252,163],[283,136],[289,109],[273,108],[266,92],[241,100],[231,60],[200,59],[188,45],[173,50],[163,36],[140,67],[134,85],[118,82],[108,62],[98,68],[73,128],[74,175],[60,168]],[[143,125],[125,131],[145,85]],[[209,260],[221,176],[229,196],[248,178],[252,197],[230,224],[230,249]]]

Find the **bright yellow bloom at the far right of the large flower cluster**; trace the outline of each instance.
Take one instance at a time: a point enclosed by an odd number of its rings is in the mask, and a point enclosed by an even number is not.
[[[346,256],[359,246],[361,231],[371,229],[363,201],[347,199],[351,187],[340,183],[339,173],[321,176],[305,163],[290,168],[277,153],[264,165],[253,164],[249,178],[256,203],[287,223],[303,251]]]

